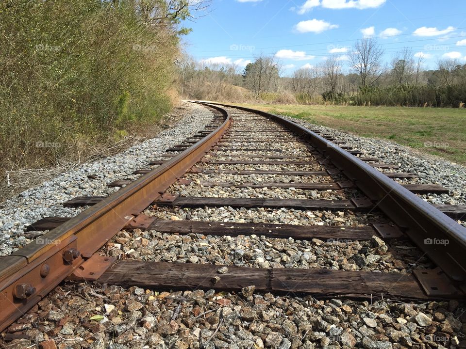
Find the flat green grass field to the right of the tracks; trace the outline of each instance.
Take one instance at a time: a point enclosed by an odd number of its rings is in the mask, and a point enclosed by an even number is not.
[[[391,140],[423,153],[466,164],[465,109],[241,105],[363,137]]]

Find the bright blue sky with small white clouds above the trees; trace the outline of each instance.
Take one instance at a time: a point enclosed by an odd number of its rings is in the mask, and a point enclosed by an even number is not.
[[[185,43],[198,61],[238,69],[275,55],[290,75],[332,54],[345,60],[356,40],[374,36],[387,62],[409,47],[434,68],[439,58],[466,63],[465,15],[463,0],[212,0]]]

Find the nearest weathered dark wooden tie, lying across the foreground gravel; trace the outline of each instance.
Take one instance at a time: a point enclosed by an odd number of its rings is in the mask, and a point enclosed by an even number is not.
[[[274,294],[311,294],[316,298],[380,299],[441,299],[428,297],[414,275],[370,271],[330,269],[259,269],[227,266],[225,274],[217,270],[223,266],[192,263],[146,262],[118,260],[97,280],[101,284],[123,287],[154,287],[157,290],[215,289],[241,291],[255,286],[258,292]],[[214,277],[218,277],[215,279]],[[462,294],[448,294],[461,298]]]

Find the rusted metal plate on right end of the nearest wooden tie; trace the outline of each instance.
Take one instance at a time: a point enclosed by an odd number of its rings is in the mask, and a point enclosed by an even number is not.
[[[462,294],[452,285],[451,280],[440,268],[413,270],[413,274],[428,296],[455,298],[455,296]]]

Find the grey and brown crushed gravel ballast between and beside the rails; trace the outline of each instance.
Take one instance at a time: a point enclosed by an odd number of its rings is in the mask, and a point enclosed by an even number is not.
[[[241,112],[230,110],[237,122],[234,127],[242,127],[256,118],[242,117]],[[236,115],[235,115],[236,113]],[[198,115],[197,121],[194,115]],[[191,117],[191,119],[187,119]],[[76,195],[102,195],[117,189],[108,189],[105,185],[117,179],[132,178],[129,174],[137,168],[147,168],[150,160],[158,159],[165,148],[179,143],[188,134],[203,127],[212,117],[212,113],[195,106],[183,121],[174,129],[181,128],[182,135],[164,135],[171,137],[150,140],[147,149],[128,149],[116,157],[87,165],[66,179],[59,177],[56,182],[41,186],[21,197],[20,211],[12,207],[6,211],[5,220],[22,212],[29,220],[21,220],[4,232],[11,237],[3,239],[7,248],[22,243],[17,237],[25,224],[36,221],[43,216],[73,216],[79,210],[64,209],[63,201]],[[303,123],[300,120],[293,121]],[[193,126],[194,123],[199,124]],[[189,125],[185,125],[189,124]],[[262,125],[266,125],[262,122]],[[305,123],[304,123],[305,124]],[[310,124],[305,124],[309,127]],[[332,133],[335,138],[350,139],[348,134],[321,128]],[[169,131],[168,131],[169,132]],[[354,138],[350,143],[366,156],[377,156],[381,162],[400,164],[399,171],[420,174],[426,172],[420,183],[435,183],[435,166],[441,166],[435,160],[430,164],[427,159],[417,159],[415,153],[407,155],[407,150],[390,142]],[[144,143],[143,143],[144,144]],[[155,144],[155,145],[154,145]],[[390,145],[391,144],[391,145]],[[236,143],[234,147],[257,146],[251,143]],[[288,147],[291,154],[312,157],[302,143],[271,143],[264,147]],[[138,145],[139,146],[139,145]],[[230,147],[230,145],[229,145]],[[295,153],[296,151],[296,153]],[[394,151],[395,155],[388,154]],[[129,153],[128,153],[129,152]],[[384,157],[384,152],[387,152]],[[251,153],[259,154],[259,153]],[[266,153],[265,153],[266,154]],[[240,154],[238,154],[240,155]],[[243,153],[244,155],[244,153]],[[289,155],[289,154],[288,154]],[[230,153],[217,152],[212,159],[227,159]],[[128,161],[126,160],[128,157]],[[236,155],[234,155],[236,158]],[[409,167],[410,157],[425,162],[425,167]],[[108,161],[108,162],[105,162]],[[117,165],[111,165],[120,161]],[[127,161],[127,162],[125,162]],[[137,163],[136,163],[137,162]],[[406,164],[406,165],[403,165]],[[417,162],[416,162],[417,164]],[[436,165],[435,165],[436,164]],[[94,167],[94,165],[96,167]],[[110,165],[110,169],[107,166]],[[199,165],[199,166],[198,166]],[[417,165],[410,165],[417,166]],[[456,168],[457,165],[450,165]],[[214,165],[197,164],[198,168],[226,170],[323,170],[325,166],[293,165]],[[465,185],[466,171],[451,173],[451,178],[463,178]],[[99,173],[101,183],[86,178]],[[417,170],[417,171],[416,171]],[[464,174],[463,177],[461,177]],[[281,190],[276,188],[218,188],[203,187],[200,181],[225,182],[261,182],[261,181],[333,181],[329,176],[286,176],[286,175],[246,175],[237,174],[195,174],[189,173],[185,178],[193,179],[189,185],[175,183],[169,191],[183,196],[203,197],[267,197],[267,198],[323,198],[348,199],[358,195],[358,190]],[[450,177],[449,177],[450,178]],[[74,181],[73,181],[74,179]],[[422,182],[431,181],[431,182]],[[100,183],[91,187],[92,183]],[[63,183],[63,184],[61,184]],[[78,184],[77,184],[78,183]],[[67,192],[67,189],[72,192]],[[459,198],[464,198],[465,188]],[[53,193],[53,195],[52,195]],[[37,195],[48,197],[48,206],[42,204]],[[53,197],[56,196],[55,199]],[[438,196],[439,200],[446,198]],[[434,202],[431,195],[426,199]],[[457,200],[455,196],[450,199]],[[457,203],[463,203],[461,200]],[[30,205],[42,205],[36,208]],[[33,207],[34,214],[28,215]],[[1,214],[2,212],[0,212]],[[309,229],[316,225],[345,227],[367,226],[374,222],[387,222],[380,212],[331,212],[306,211],[297,209],[233,209],[218,208],[181,208],[150,206],[144,212],[164,220],[193,220],[204,222],[224,222],[234,226],[235,223],[272,223],[300,224]],[[21,217],[23,217],[21,216]],[[18,220],[17,218],[13,218]],[[10,221],[4,221],[9,222]],[[9,233],[13,231],[13,233]],[[2,247],[5,249],[5,247]],[[112,238],[99,254],[106,254],[118,259],[150,260],[156,262],[203,263],[223,265],[218,276],[228,273],[231,266],[255,268],[318,268],[324,270],[353,270],[411,273],[414,269],[432,268],[432,262],[406,239],[385,240],[372,237],[366,241],[322,241],[319,239],[298,240],[293,238],[267,238],[251,234],[249,236],[211,236],[201,234],[164,234],[155,230],[121,231]],[[368,298],[367,298],[368,299]],[[21,333],[29,339],[15,339],[9,348],[37,348],[38,343],[53,341],[60,349],[456,349],[466,348],[466,308],[459,301],[398,301],[388,295],[374,295],[369,301],[350,301],[347,299],[317,300],[312,296],[302,296],[289,292],[286,295],[272,295],[256,292],[254,285],[244,287],[241,292],[218,292],[216,290],[173,291],[161,287],[144,289],[139,287],[124,288],[119,286],[92,283],[64,282],[50,295],[40,301],[20,321],[8,330],[8,333]],[[53,346],[47,348],[54,348]]]

